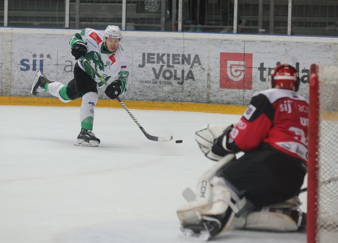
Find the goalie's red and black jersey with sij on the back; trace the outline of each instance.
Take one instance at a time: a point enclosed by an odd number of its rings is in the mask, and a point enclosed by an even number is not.
[[[227,148],[245,152],[266,143],[307,164],[308,123],[305,98],[285,89],[260,91],[229,133]]]

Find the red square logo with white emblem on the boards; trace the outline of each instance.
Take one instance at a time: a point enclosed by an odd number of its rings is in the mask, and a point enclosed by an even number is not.
[[[220,88],[252,89],[252,53],[221,52]]]

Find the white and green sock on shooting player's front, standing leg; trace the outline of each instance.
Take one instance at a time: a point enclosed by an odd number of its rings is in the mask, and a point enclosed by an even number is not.
[[[82,96],[80,107],[81,128],[93,130],[94,107],[97,103],[98,95],[95,92],[88,92]]]

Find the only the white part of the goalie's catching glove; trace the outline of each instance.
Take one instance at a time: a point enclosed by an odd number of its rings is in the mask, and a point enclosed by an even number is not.
[[[212,160],[220,160],[222,157],[214,154],[211,150],[214,140],[221,136],[229,126],[207,125],[195,133],[195,140],[206,157]]]

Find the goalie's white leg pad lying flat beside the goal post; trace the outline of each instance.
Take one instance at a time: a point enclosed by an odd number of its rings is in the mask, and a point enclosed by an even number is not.
[[[263,207],[261,211],[251,212],[246,217],[246,229],[270,231],[297,231],[303,213],[299,209],[297,196],[280,204]]]

